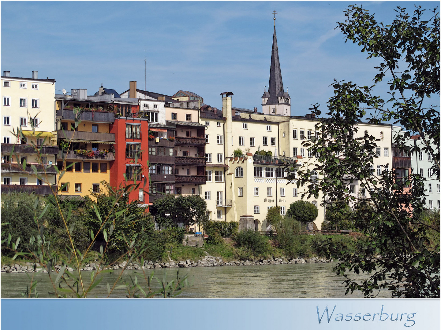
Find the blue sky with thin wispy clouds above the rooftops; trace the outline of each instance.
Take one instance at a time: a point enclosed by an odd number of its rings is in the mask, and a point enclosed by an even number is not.
[[[221,108],[220,93],[232,91],[233,106],[261,111],[268,87],[273,15],[284,88],[292,115],[324,105],[333,79],[371,85],[377,59],[366,60],[356,44],[335,30],[347,1],[246,2],[25,2],[1,3],[1,71],[11,76],[55,78],[61,89],[101,84],[123,92],[136,80],[144,89],[173,95],[190,90]],[[391,22],[396,6],[430,9],[436,1],[358,2]],[[388,88],[377,89],[383,96]],[[383,96],[386,98],[387,96]],[[439,100],[437,100],[439,104]]]

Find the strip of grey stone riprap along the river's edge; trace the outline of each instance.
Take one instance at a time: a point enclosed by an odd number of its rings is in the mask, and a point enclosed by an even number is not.
[[[325,258],[318,258],[318,257],[312,257],[312,258],[294,258],[294,259],[282,259],[282,258],[276,258],[273,259],[272,257],[270,259],[253,259],[253,260],[237,260],[237,261],[229,261],[224,262],[222,258],[220,257],[213,257],[213,256],[205,256],[202,258],[202,260],[192,261],[192,260],[185,260],[185,261],[173,261],[169,260],[168,262],[161,262],[161,263],[153,263],[151,261],[145,261],[144,265],[140,266],[137,263],[130,263],[126,269],[153,269],[153,268],[188,268],[188,267],[217,267],[217,266],[249,266],[249,265],[277,265],[277,264],[288,264],[288,263],[329,263],[331,260],[326,260]],[[123,261],[122,263],[109,266],[108,269],[123,269],[126,266],[126,261]],[[84,267],[81,268],[82,271],[93,271],[98,269],[98,264],[96,263],[86,263]],[[60,271],[61,266],[54,266],[56,271]],[[101,269],[101,268],[99,268]],[[3,265],[1,267],[1,272],[5,273],[26,273],[26,272],[32,272],[34,270],[34,264],[32,263],[26,263],[25,265],[19,265],[15,263],[14,265]],[[67,267],[68,271],[73,271],[71,267]],[[43,271],[47,272],[43,267],[41,267],[38,263],[35,267],[35,271]],[[54,270],[52,270],[54,271]]]

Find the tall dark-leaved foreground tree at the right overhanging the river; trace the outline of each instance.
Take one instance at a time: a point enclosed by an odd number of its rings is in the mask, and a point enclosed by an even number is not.
[[[359,290],[372,297],[374,290],[389,289],[392,297],[440,297],[440,245],[437,242],[430,247],[428,239],[428,233],[439,233],[439,228],[430,226],[423,217],[426,179],[411,174],[407,180],[396,182],[392,171],[373,173],[369,166],[378,157],[375,148],[380,140],[368,132],[357,134],[362,119],[373,124],[400,123],[406,133],[396,138],[396,147],[409,149],[405,146],[409,137],[421,135],[421,151],[432,155],[433,171],[439,180],[439,106],[425,105],[434,95],[439,101],[439,13],[435,9],[429,20],[423,20],[421,7],[416,7],[413,15],[405,8],[396,11],[396,19],[384,26],[367,10],[350,6],[344,11],[346,21],[337,23],[346,41],[359,44],[368,59],[381,59],[373,80],[376,84],[387,74],[391,92],[385,101],[373,95],[375,85],[335,81],[334,95],[327,103],[329,118],[316,126],[320,134],[305,143],[319,157],[313,168],[299,171],[298,185],[307,185],[309,196],[325,194],[333,207],[354,205],[355,226],[369,236],[355,255],[332,239],[322,246],[329,257],[339,260],[334,271],[346,278],[346,293]],[[320,115],[319,105],[314,105],[313,111]],[[357,135],[360,137],[353,137]],[[419,151],[418,147],[410,148],[411,153]],[[310,180],[314,170],[323,179]],[[354,181],[369,191],[369,198],[349,194],[348,184]],[[409,193],[404,192],[404,185],[410,186]],[[370,279],[359,282],[350,278],[350,272],[370,274]]]

